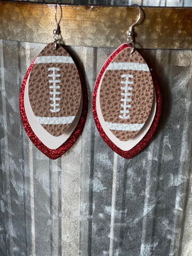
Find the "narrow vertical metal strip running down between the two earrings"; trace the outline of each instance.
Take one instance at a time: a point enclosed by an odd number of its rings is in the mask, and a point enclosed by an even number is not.
[[[81,171],[80,171],[80,221],[79,221],[79,255],[89,256],[89,250],[91,250],[90,241],[90,227],[92,227],[92,192],[90,191],[90,186],[93,185],[90,181],[92,175],[92,170],[94,170],[94,124],[92,117],[92,107],[91,98],[92,91],[95,81],[95,55],[97,56],[96,48],[83,48],[77,47],[81,50],[81,60],[83,66],[83,75],[87,89],[87,95],[89,98],[89,108],[87,112],[86,122],[81,134]],[[86,70],[86,73],[84,71]],[[88,135],[89,134],[89,135]],[[92,179],[91,179],[92,180]],[[91,224],[90,224],[91,223]],[[90,246],[90,248],[89,248]]]

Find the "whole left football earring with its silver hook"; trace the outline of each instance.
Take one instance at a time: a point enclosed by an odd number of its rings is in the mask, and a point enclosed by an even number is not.
[[[87,114],[87,92],[83,77],[70,54],[58,44],[59,22],[53,43],[45,46],[31,63],[20,92],[23,126],[34,145],[56,159],[74,144]],[[62,16],[62,9],[61,9]]]

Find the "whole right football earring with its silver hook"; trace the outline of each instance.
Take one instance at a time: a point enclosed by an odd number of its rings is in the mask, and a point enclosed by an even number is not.
[[[93,116],[102,139],[124,158],[137,155],[153,136],[161,95],[152,69],[134,49],[133,27],[103,65],[93,92]]]

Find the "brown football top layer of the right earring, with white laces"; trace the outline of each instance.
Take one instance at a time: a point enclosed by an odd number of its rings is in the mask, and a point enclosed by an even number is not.
[[[100,108],[108,129],[121,141],[133,138],[146,123],[154,100],[154,84],[147,63],[132,47],[125,47],[101,78]]]

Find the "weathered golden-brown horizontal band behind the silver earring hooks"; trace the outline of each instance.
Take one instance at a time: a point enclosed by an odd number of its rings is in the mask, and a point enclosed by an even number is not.
[[[0,3],[0,38],[49,43],[55,28],[53,4]],[[58,17],[60,9],[58,8]],[[126,43],[135,22],[133,6],[62,5],[61,36],[66,45],[117,47]],[[191,7],[142,7],[135,26],[135,46],[145,49],[191,49]],[[144,18],[145,17],[145,18]]]

